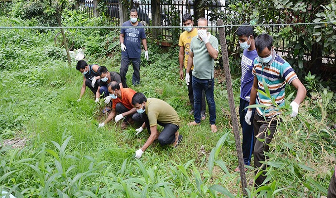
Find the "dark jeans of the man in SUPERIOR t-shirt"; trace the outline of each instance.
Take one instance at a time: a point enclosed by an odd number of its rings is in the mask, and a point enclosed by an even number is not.
[[[128,71],[128,65],[132,61],[133,65],[133,76],[132,76],[132,84],[138,85],[140,83],[140,58],[128,58],[122,55],[122,62],[120,66],[120,75],[126,81],[126,73]]]

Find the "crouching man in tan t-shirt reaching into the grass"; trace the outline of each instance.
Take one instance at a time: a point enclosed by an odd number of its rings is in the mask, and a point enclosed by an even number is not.
[[[178,132],[180,119],[167,102],[161,99],[146,99],[142,93],[136,93],[132,98],[132,104],[136,111],[142,114],[143,124],[136,131],[141,132],[143,128],[147,127],[150,133],[146,143],[135,152],[135,158],[141,158],[143,152],[156,139],[161,145],[172,144],[174,147],[182,140],[182,135]],[[158,124],[164,127],[162,132],[158,132]]]

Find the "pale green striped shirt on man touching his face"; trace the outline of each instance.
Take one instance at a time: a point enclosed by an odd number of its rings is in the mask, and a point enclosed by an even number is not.
[[[209,33],[209,32],[208,32]],[[209,33],[210,45],[218,51],[218,40]],[[210,56],[206,44],[195,36],[191,39],[190,51],[194,53],[194,70],[192,75],[199,79],[211,79],[214,77],[214,60]]]

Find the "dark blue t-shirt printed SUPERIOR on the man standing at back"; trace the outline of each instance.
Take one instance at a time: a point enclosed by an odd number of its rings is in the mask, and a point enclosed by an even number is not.
[[[131,27],[130,21],[126,21],[123,27]],[[137,27],[142,24],[138,22]],[[143,28],[122,28],[120,33],[124,34],[124,45],[126,52],[122,51],[122,56],[128,58],[140,58],[141,56],[141,40],[146,38],[145,30]]]

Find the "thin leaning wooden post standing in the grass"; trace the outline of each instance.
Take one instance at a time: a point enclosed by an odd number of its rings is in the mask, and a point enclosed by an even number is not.
[[[218,26],[223,25],[223,21],[219,19],[217,21]],[[233,127],[233,132],[235,135],[235,141],[236,141],[236,149],[237,149],[237,157],[238,157],[238,164],[240,169],[240,179],[242,181],[242,190],[244,196],[247,196],[248,193],[246,191],[247,183],[246,183],[246,175],[245,175],[245,167],[244,167],[244,159],[243,159],[243,151],[242,151],[242,144],[240,141],[239,136],[239,127],[238,127],[238,120],[236,115],[236,107],[235,107],[235,100],[233,98],[233,89],[232,89],[232,82],[231,82],[231,73],[230,73],[230,67],[229,67],[229,56],[227,53],[227,45],[226,45],[226,37],[224,28],[218,28],[219,31],[219,40],[220,40],[220,46],[222,49],[222,59],[223,59],[223,66],[224,66],[224,73],[225,73],[225,79],[226,79],[226,89],[227,89],[227,98],[229,100],[229,106],[230,106],[230,113],[231,113],[231,122]]]

